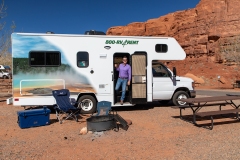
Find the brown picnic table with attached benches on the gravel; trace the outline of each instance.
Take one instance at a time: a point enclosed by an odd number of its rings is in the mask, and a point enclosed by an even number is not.
[[[201,98],[188,98],[188,99],[177,99],[177,101],[187,102],[188,105],[184,106],[173,106],[172,108],[180,109],[180,118],[183,119],[182,109],[191,108],[193,112],[193,121],[192,123],[196,126],[199,126],[196,123],[196,116],[200,117],[211,117],[211,127],[213,129],[213,116],[214,115],[224,115],[229,113],[236,113],[236,118],[239,120],[238,112],[240,112],[239,106],[236,105],[233,100],[240,100],[239,95],[227,95],[227,96],[214,96],[214,97],[201,97]],[[233,109],[222,110],[222,106],[230,105]],[[202,108],[208,106],[219,106],[218,111],[208,111],[208,112],[199,112]],[[184,120],[184,119],[183,119]]]

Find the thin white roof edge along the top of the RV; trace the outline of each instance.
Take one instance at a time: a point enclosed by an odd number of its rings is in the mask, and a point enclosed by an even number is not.
[[[113,37],[113,38],[142,38],[142,39],[168,39],[172,37],[147,37],[147,36],[115,36],[115,35],[82,35],[82,34],[46,34],[46,33],[13,33],[23,36],[64,36],[64,37]]]

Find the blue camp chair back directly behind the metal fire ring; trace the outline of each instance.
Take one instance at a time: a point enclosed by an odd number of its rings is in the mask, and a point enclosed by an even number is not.
[[[108,115],[111,110],[112,103],[109,101],[100,101],[97,103],[97,114],[94,116]]]

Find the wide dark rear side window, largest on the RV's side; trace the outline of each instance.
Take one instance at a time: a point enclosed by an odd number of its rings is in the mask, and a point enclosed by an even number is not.
[[[61,65],[61,53],[58,51],[31,51],[29,64],[32,67],[54,67]]]

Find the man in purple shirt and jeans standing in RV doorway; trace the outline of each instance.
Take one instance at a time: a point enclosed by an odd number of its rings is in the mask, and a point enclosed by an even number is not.
[[[119,87],[122,85],[122,96],[120,99],[121,105],[123,105],[123,101],[125,98],[126,86],[130,85],[131,81],[131,66],[127,64],[127,57],[124,56],[122,61],[123,63],[121,63],[119,66],[115,64],[117,71],[119,71],[119,76],[115,90],[118,91]]]

